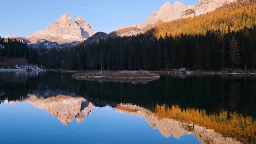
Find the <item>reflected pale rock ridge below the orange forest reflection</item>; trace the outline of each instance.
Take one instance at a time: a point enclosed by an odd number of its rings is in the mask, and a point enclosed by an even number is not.
[[[120,113],[129,112],[136,116],[145,117],[146,122],[154,129],[158,129],[159,132],[166,138],[171,135],[174,138],[180,138],[185,134],[193,134],[198,140],[204,144],[240,144],[234,138],[226,138],[221,134],[215,132],[215,130],[206,129],[204,126],[197,126],[194,124],[188,124],[186,122],[179,122],[168,118],[156,116],[150,110],[146,108],[132,105],[132,104],[116,104],[116,109]]]

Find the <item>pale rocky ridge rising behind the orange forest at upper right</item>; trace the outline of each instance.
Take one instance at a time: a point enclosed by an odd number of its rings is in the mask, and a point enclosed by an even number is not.
[[[121,26],[116,33],[118,36],[141,34],[164,22],[199,16],[207,12],[212,12],[224,4],[236,1],[237,0],[199,0],[199,2],[193,6],[185,6],[181,2],[174,2],[174,5],[172,6],[170,2],[166,2],[161,6],[160,10],[152,12],[152,14],[146,18],[145,23],[133,24],[132,26],[128,26],[128,28]]]

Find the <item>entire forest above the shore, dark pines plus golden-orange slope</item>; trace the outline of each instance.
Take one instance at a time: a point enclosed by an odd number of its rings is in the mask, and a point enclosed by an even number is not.
[[[238,0],[202,16],[167,22],[145,34],[111,36],[68,48],[28,48],[8,39],[2,41],[1,56],[23,57],[50,69],[248,70],[256,67],[255,41],[256,2]]]

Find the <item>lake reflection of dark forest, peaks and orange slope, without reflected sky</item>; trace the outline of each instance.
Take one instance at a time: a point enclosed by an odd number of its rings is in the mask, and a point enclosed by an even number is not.
[[[38,75],[22,77],[22,82],[1,76],[2,102],[28,101],[64,125],[73,118],[82,122],[94,106],[111,106],[145,117],[166,138],[186,133],[203,143],[256,142],[254,76],[165,74],[160,80],[132,84]]]

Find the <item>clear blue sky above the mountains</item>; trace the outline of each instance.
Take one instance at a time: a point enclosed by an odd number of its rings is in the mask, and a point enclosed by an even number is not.
[[[146,18],[170,2],[194,5],[198,0],[0,0],[0,36],[30,36],[68,13],[82,16],[94,32],[112,32],[120,26],[146,22]]]

